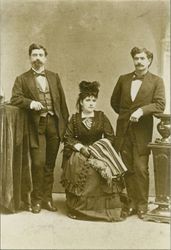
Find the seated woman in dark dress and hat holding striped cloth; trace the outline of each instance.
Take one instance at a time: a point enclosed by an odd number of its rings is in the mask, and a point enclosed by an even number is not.
[[[122,174],[126,167],[112,147],[114,132],[108,118],[102,111],[95,111],[99,83],[82,81],[79,88],[79,112],[72,115],[64,137],[61,183],[68,216],[121,221]]]

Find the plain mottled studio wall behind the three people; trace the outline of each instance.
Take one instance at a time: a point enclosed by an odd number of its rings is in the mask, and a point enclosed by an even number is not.
[[[101,84],[98,109],[108,115],[115,129],[117,115],[110,107],[110,97],[119,75],[134,69],[130,50],[144,46],[153,51],[150,70],[162,74],[168,6],[169,1],[2,0],[1,85],[5,99],[11,97],[16,76],[30,68],[29,45],[40,43],[48,50],[47,68],[59,73],[70,114],[75,112],[78,83],[97,80]],[[60,151],[54,191],[63,191]],[[150,194],[154,194],[152,160],[150,177]]]

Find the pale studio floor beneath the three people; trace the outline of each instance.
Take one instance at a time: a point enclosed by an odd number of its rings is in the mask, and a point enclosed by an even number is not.
[[[123,222],[73,220],[64,194],[58,212],[1,214],[1,249],[170,249],[170,224],[131,216]]]

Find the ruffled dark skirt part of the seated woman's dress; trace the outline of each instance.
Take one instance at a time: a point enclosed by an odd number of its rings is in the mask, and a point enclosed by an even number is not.
[[[69,212],[77,217],[104,221],[122,220],[122,180],[115,180],[109,186],[79,152],[73,152],[69,159],[63,161],[61,183],[65,188]]]

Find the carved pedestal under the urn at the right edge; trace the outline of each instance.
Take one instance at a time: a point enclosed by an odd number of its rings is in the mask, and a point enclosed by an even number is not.
[[[144,220],[170,223],[170,143],[149,143],[154,162],[154,178],[157,208],[149,211]]]

